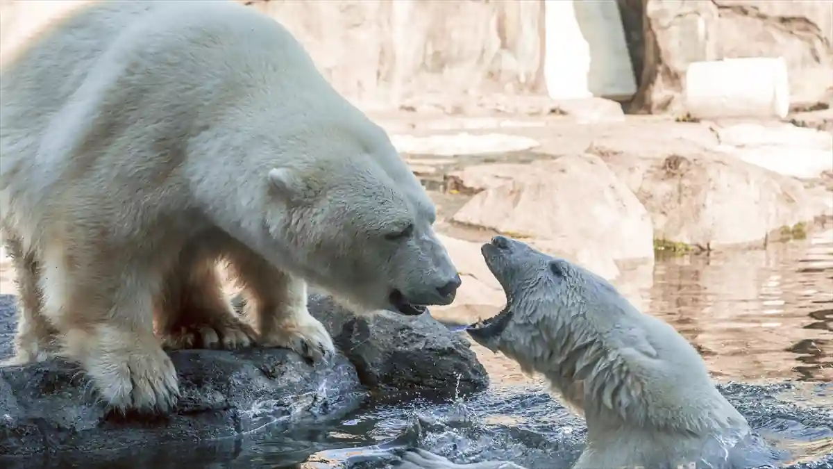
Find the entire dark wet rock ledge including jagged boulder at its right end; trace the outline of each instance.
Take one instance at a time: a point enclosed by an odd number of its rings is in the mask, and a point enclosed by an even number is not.
[[[39,453],[131,451],[264,426],[302,428],[352,411],[367,391],[453,395],[458,375],[461,393],[487,385],[466,342],[430,317],[354,319],[321,296],[310,310],[346,354],[310,365],[283,349],[174,351],[182,398],[165,417],[107,415],[87,378],[64,361],[0,368],[0,466]],[[0,295],[0,359],[12,352],[14,320],[14,298]]]

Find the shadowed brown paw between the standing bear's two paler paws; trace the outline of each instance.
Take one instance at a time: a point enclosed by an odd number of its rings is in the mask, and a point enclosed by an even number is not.
[[[252,327],[228,314],[212,324],[177,325],[162,334],[162,346],[168,350],[236,350],[255,345],[256,336]]]

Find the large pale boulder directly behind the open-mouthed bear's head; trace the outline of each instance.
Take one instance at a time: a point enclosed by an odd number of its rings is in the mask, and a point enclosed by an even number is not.
[[[609,278],[615,260],[653,259],[651,218],[596,155],[483,164],[454,174],[479,190],[452,220],[529,240]]]

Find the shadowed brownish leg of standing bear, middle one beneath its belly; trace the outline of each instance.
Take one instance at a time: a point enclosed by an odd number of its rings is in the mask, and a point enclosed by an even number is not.
[[[237,318],[222,291],[212,258],[183,253],[155,308],[157,331],[168,349],[226,349],[253,345],[255,332]]]

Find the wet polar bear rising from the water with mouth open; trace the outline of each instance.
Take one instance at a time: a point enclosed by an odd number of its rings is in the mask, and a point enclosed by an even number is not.
[[[541,373],[585,417],[586,444],[573,469],[745,468],[776,459],[671,325],[636,310],[598,275],[520,241],[497,236],[481,251],[506,292],[506,309],[467,331],[522,370]],[[398,463],[523,469],[456,465],[421,450]]]

